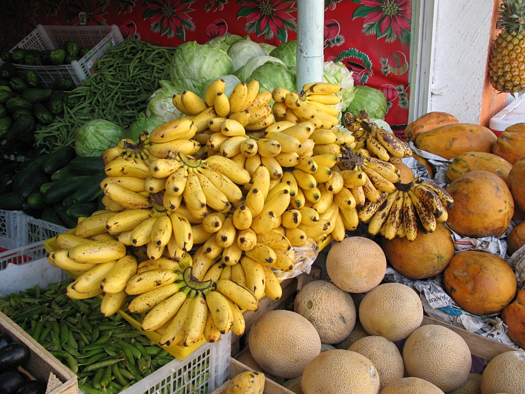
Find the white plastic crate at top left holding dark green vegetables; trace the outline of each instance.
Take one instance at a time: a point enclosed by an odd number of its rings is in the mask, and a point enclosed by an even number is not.
[[[117,46],[124,41],[118,26],[43,26],[37,25],[13,49],[58,49],[66,41],[74,41],[79,47],[93,47],[80,60],[73,60],[71,64],[61,66],[27,66],[15,64],[20,75],[26,70],[35,70],[44,86],[51,84],[60,77],[71,77],[77,86],[88,78],[92,72],[91,67],[100,59],[110,46]]]

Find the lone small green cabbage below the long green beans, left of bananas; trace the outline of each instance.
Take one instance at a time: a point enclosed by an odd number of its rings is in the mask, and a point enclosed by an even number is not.
[[[107,120],[94,119],[84,123],[75,133],[77,156],[100,157],[124,138],[124,130]]]

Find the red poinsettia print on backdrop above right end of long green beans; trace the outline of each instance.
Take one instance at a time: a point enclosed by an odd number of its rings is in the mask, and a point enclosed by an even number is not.
[[[146,0],[143,19],[151,19],[151,31],[165,34],[167,38],[177,36],[186,39],[186,30],[195,30],[195,24],[188,13],[194,11],[190,5],[197,0]]]

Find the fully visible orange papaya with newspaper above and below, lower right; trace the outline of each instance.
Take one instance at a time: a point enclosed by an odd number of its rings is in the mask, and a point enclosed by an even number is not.
[[[445,291],[467,312],[485,316],[500,312],[510,304],[518,283],[514,271],[492,253],[459,252],[443,275]]]

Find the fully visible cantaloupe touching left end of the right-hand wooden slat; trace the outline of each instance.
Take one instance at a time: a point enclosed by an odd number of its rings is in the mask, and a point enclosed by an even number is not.
[[[461,387],[472,365],[465,340],[434,324],[419,327],[407,338],[403,360],[408,376],[427,380],[443,391]]]

